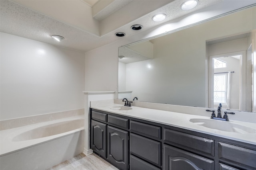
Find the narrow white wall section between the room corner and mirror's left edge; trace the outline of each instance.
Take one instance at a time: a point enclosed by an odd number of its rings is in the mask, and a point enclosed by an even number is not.
[[[106,45],[86,53],[85,91],[117,91],[118,47]]]

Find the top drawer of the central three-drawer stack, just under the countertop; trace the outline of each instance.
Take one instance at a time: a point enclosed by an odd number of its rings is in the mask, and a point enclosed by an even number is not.
[[[131,132],[153,139],[161,139],[161,127],[148,125],[137,121],[130,121]]]

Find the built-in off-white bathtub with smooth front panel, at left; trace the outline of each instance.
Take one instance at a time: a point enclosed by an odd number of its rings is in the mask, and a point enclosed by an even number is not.
[[[45,170],[84,150],[84,115],[0,131],[1,170]]]

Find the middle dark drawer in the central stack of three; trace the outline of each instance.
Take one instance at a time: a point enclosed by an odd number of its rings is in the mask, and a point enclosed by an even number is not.
[[[161,143],[130,133],[130,153],[161,166]]]

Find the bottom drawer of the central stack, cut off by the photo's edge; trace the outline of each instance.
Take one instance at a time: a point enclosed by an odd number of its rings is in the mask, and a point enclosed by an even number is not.
[[[155,166],[130,155],[130,170],[160,170],[159,168],[156,168]]]

